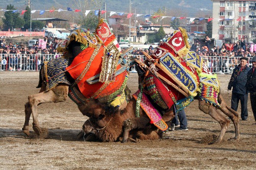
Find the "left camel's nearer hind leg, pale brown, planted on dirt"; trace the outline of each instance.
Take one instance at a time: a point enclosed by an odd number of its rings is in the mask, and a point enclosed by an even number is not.
[[[47,92],[41,92],[37,93],[35,95],[30,95],[28,97],[28,104],[31,107],[31,112],[33,116],[33,130],[36,132],[37,135],[40,135],[42,133],[42,130],[39,126],[39,122],[37,120],[37,105],[41,103],[58,103],[65,101],[68,96],[68,85],[58,85],[52,90],[49,90]],[[27,114],[29,115],[29,114]],[[28,118],[27,118],[28,119]],[[26,120],[25,120],[26,121]],[[25,122],[27,123],[27,122]],[[24,126],[27,124],[24,124]],[[27,133],[26,133],[27,134]]]

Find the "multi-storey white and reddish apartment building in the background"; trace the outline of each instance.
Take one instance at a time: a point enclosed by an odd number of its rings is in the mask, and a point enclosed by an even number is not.
[[[212,2],[212,38],[225,42],[256,39],[256,0]]]

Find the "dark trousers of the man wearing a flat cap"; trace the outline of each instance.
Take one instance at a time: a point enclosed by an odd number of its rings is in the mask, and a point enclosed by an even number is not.
[[[246,120],[248,117],[248,109],[247,109],[248,95],[232,93],[231,108],[235,111],[237,111],[239,100],[241,103],[241,119]]]

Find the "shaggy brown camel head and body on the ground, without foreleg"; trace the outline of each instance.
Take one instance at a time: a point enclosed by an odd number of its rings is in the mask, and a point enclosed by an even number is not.
[[[136,119],[138,129],[131,130],[127,136],[127,140],[135,141],[140,140],[156,140],[162,137],[162,131],[157,130],[157,127],[151,125],[146,113],[140,108],[140,117],[136,118],[134,111],[136,108],[136,100],[131,99],[126,108],[121,110],[119,108],[108,109],[100,103],[95,103],[89,109],[92,115],[83,125],[85,134],[93,133],[96,139],[103,142],[122,141],[123,122],[129,119]],[[97,108],[97,109],[96,109]],[[175,115],[172,114],[172,119]],[[142,125],[141,127],[139,125]]]

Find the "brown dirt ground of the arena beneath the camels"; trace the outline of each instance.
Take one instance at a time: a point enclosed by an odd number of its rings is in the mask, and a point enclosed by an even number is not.
[[[227,91],[230,75],[219,75],[222,94],[230,104]],[[39,72],[0,72],[0,169],[24,170],[151,170],[151,169],[256,169],[256,125],[248,99],[248,121],[240,122],[240,141],[234,137],[231,123],[220,144],[202,143],[209,136],[219,135],[220,125],[198,109],[194,101],[185,109],[188,131],[168,133],[167,139],[138,141],[138,143],[100,143],[76,140],[84,121],[76,104],[63,103],[38,106],[39,123],[48,128],[46,139],[26,137],[24,104],[28,95],[37,93]],[[134,93],[137,75],[132,73],[128,86]],[[240,108],[238,110],[240,112]]]

